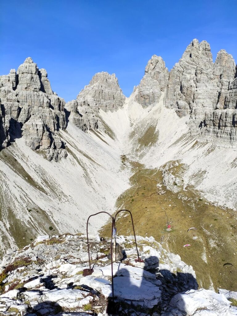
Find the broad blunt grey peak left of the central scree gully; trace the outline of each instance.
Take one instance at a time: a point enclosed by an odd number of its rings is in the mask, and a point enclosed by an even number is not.
[[[117,111],[123,106],[125,96],[118,84],[115,74],[98,72],[90,83],[78,94],[76,100],[66,104],[70,112],[70,121],[83,131],[102,128],[98,111]]]

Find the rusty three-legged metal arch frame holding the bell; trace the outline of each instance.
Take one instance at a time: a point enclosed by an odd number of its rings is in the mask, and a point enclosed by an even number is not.
[[[137,250],[137,256],[138,256],[138,259],[135,259],[135,262],[144,262],[143,260],[141,260],[139,258],[139,253],[138,253],[138,247],[137,247],[137,240],[136,240],[136,235],[135,235],[135,229],[134,229],[134,224],[133,224],[133,216],[132,216],[132,213],[129,211],[129,210],[119,210],[116,212],[115,216],[112,216],[110,215],[110,213],[108,212],[105,212],[105,211],[101,211],[101,212],[98,212],[96,214],[92,214],[88,217],[87,219],[87,223],[86,223],[86,237],[87,237],[87,250],[88,250],[88,257],[89,257],[89,269],[84,269],[83,270],[83,276],[87,276],[87,275],[90,275],[92,274],[93,272],[93,268],[91,269],[91,258],[90,258],[90,248],[89,248],[89,238],[88,238],[88,223],[89,223],[89,219],[92,217],[92,216],[95,216],[95,215],[98,215],[98,214],[101,214],[101,213],[105,213],[105,214],[108,214],[111,218],[112,218],[112,228],[111,228],[111,239],[110,239],[110,252],[111,252],[111,276],[112,276],[112,296],[113,296],[113,301],[114,301],[114,274],[113,274],[113,249],[112,249],[112,240],[113,240],[113,228],[115,228],[115,221],[116,221],[116,217],[118,215],[118,213],[120,212],[129,212],[130,216],[131,216],[131,220],[132,220],[132,225],[133,225],[133,234],[134,234],[134,240],[135,240],[135,244],[136,244],[136,250]]]

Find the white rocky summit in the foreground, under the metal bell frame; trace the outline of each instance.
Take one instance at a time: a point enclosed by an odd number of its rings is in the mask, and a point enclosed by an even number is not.
[[[124,258],[114,263],[116,315],[237,315],[227,298],[199,289],[191,266],[153,237],[137,237],[144,263],[135,263],[134,237],[120,236]],[[40,236],[4,256],[0,275],[1,315],[107,315],[111,305],[110,243],[89,237],[94,272],[88,268],[85,235]],[[226,298],[227,297],[227,298]]]

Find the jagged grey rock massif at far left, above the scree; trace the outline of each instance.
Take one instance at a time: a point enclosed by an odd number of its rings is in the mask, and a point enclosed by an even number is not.
[[[0,145],[24,137],[33,150],[45,150],[48,160],[67,156],[56,135],[66,128],[65,102],[53,93],[45,69],[29,57],[17,70],[0,77]]]

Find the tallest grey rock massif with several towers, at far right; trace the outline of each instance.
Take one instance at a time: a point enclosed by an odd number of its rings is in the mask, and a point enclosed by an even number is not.
[[[226,51],[213,63],[210,45],[193,40],[169,73],[165,106],[190,114],[190,130],[203,139],[236,145],[235,63]],[[231,109],[231,110],[230,110]]]

